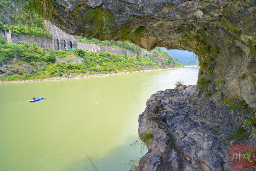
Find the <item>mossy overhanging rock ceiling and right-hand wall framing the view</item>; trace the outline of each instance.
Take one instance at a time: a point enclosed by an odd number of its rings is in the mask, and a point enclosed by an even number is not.
[[[218,93],[227,99],[245,100],[256,110],[255,0],[55,2],[52,22],[63,31],[86,35],[88,21],[84,18],[88,10],[96,7],[107,10],[116,20],[112,39],[119,39],[120,28],[134,31],[142,26],[143,37],[136,42],[140,47],[188,50],[199,56],[200,94],[221,90]]]

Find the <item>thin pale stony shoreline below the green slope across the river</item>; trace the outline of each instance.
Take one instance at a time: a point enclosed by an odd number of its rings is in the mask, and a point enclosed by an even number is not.
[[[64,75],[61,77],[54,77],[48,79],[39,79],[39,80],[17,80],[17,81],[0,81],[0,83],[14,83],[14,82],[32,82],[32,81],[49,81],[49,80],[63,80],[63,79],[79,79],[86,77],[94,77],[94,76],[108,76],[108,75],[116,75],[116,74],[126,74],[126,73],[134,73],[134,72],[149,72],[149,71],[162,71],[169,69],[180,69],[180,68],[165,68],[165,69],[156,69],[156,70],[141,70],[141,71],[130,71],[130,72],[117,72],[117,73],[103,73],[103,74],[93,74],[93,75]]]

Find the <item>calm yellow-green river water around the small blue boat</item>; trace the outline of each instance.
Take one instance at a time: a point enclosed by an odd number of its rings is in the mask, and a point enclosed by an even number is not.
[[[0,170],[128,170],[138,116],[158,90],[197,82],[197,68],[0,83]],[[28,102],[34,96],[45,98]],[[87,156],[86,156],[87,155]],[[140,156],[141,157],[141,156]]]

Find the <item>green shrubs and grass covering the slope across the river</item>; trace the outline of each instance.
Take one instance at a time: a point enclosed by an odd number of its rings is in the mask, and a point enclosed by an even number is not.
[[[5,69],[19,70],[19,66],[24,64],[29,65],[33,70],[30,74],[28,72],[10,74],[5,72],[0,76],[1,81],[27,80],[27,79],[44,79],[63,75],[92,75],[96,73],[116,73],[125,71],[141,70],[139,65],[157,65],[154,61],[154,55],[162,58],[169,65],[173,58],[167,54],[161,55],[156,49],[150,52],[149,57],[145,56],[127,56],[120,54],[113,54],[109,52],[100,52],[95,54],[87,52],[82,49],[54,51],[53,49],[44,50],[35,44],[22,42],[21,44],[14,44],[5,42],[3,38],[0,39],[0,61],[11,61],[13,65],[5,65]],[[56,62],[57,58],[68,59],[67,62]],[[82,63],[72,63],[70,58],[83,58]],[[173,63],[174,64],[174,63]],[[180,63],[177,63],[178,67]],[[0,67],[1,70],[1,67]]]

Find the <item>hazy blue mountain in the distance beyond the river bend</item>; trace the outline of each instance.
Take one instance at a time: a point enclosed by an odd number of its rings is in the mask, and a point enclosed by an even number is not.
[[[164,47],[161,47],[164,51],[168,52],[174,59],[177,58],[180,63],[185,66],[188,65],[198,65],[198,57],[195,56],[193,52],[181,51],[177,49],[167,50]]]

